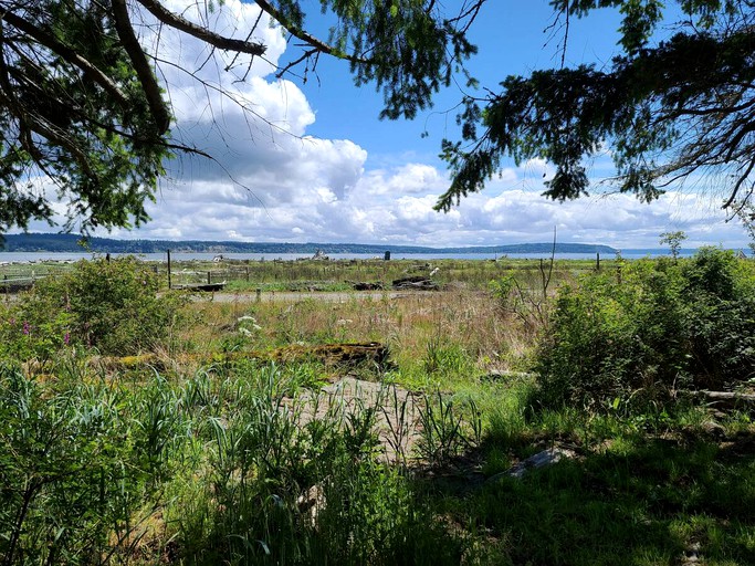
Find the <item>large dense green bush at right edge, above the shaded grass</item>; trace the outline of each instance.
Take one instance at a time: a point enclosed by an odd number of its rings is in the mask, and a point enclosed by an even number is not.
[[[755,373],[755,280],[733,253],[628,264],[560,290],[536,370],[545,406],[662,401]]]

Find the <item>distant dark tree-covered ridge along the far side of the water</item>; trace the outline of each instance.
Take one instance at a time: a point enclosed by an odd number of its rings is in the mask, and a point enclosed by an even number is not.
[[[421,245],[360,244],[360,243],[295,243],[295,242],[210,242],[201,240],[115,240],[112,238],[87,238],[82,241],[74,234],[10,234],[6,237],[6,252],[102,252],[102,253],[374,253],[382,256],[392,253],[550,253],[553,243],[518,243],[507,245],[476,245],[457,248],[427,248]],[[602,244],[556,243],[557,253],[605,253],[617,250]]]

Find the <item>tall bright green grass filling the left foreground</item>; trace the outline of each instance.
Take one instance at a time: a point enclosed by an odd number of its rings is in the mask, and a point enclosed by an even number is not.
[[[317,415],[275,366],[72,377],[0,375],[4,564],[459,563],[463,538],[382,458],[382,406]]]

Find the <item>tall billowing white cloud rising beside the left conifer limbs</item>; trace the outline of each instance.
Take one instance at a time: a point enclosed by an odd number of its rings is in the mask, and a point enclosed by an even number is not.
[[[285,50],[280,28],[253,3],[227,1],[208,15],[186,1],[171,8],[219,32],[268,45],[265,57],[234,57],[172,30],[145,25],[141,41],[161,59],[176,116],[175,135],[213,159],[183,156],[169,164],[154,221],[145,233],[172,238],[275,239],[323,223],[318,207],[347,198],[367,154],[350,140],[306,135],[315,119],[302,91],[271,76]],[[231,72],[222,71],[231,67]],[[284,212],[284,213],[282,213]],[[300,220],[301,219],[301,220]],[[275,226],[271,226],[275,222]],[[297,228],[297,230],[294,230]]]

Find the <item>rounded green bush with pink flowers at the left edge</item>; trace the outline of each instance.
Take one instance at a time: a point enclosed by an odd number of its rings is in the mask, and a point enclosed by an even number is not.
[[[124,356],[167,346],[185,298],[157,290],[155,273],[134,258],[81,261],[7,308],[0,354],[45,359],[84,345]]]

